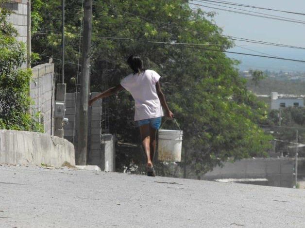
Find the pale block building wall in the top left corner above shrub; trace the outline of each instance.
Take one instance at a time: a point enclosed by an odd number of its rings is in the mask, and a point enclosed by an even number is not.
[[[19,35],[17,40],[27,42],[27,0],[10,0],[5,3],[5,8],[11,10],[13,13],[9,16],[8,21],[11,22],[17,29]]]

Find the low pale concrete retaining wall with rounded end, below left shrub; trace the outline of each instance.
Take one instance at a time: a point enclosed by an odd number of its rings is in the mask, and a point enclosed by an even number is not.
[[[75,152],[68,140],[30,131],[0,130],[0,163],[75,165]]]

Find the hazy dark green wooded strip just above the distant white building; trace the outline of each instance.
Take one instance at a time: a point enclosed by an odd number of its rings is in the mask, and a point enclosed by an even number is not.
[[[278,81],[268,78],[255,86],[252,80],[248,80],[247,87],[255,94],[269,95],[271,92],[278,92],[280,94],[305,95],[305,82],[300,81]]]

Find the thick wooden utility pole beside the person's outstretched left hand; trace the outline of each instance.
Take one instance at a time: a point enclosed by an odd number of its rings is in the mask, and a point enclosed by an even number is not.
[[[78,147],[75,156],[76,164],[86,165],[88,145],[88,96],[89,96],[89,74],[91,54],[91,32],[92,32],[92,0],[85,0],[83,49],[82,49],[82,79],[81,79],[81,102],[79,105],[78,120]]]

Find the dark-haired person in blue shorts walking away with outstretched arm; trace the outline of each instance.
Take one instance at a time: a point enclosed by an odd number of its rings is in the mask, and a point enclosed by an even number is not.
[[[140,129],[142,145],[147,157],[147,176],[155,176],[153,156],[156,146],[156,131],[160,128],[161,117],[173,118],[159,83],[160,75],[153,70],[143,68],[143,61],[139,56],[131,55],[127,60],[133,73],[125,77],[119,85],[111,87],[100,95],[89,100],[106,98],[122,89],[126,89],[135,99],[135,121]],[[163,108],[163,109],[162,109]]]

